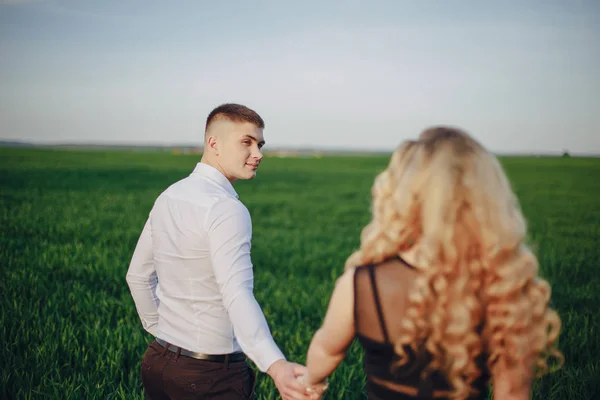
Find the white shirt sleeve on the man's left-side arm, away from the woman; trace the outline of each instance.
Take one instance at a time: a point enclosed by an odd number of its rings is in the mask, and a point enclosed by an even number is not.
[[[158,278],[154,268],[151,224],[151,219],[148,218],[133,252],[125,279],[142,326],[156,336],[159,300],[156,296]]]

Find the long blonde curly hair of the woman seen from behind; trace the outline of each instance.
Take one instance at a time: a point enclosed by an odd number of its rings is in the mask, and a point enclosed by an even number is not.
[[[416,246],[418,278],[394,344],[401,356],[405,345],[425,346],[433,361],[423,377],[443,371],[453,396],[466,398],[482,373],[481,353],[492,374],[531,365],[539,377],[550,357],[563,364],[550,286],[538,276],[519,202],[496,157],[462,130],[430,128],[394,152],[372,197],[372,221],[346,269]],[[531,381],[521,376],[522,384]]]

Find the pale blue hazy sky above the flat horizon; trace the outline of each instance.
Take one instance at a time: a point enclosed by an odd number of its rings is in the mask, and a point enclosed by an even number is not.
[[[600,154],[600,1],[0,0],[0,140],[201,145],[226,102],[265,149]]]

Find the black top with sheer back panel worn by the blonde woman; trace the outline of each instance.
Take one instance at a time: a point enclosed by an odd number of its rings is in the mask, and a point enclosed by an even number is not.
[[[399,260],[404,266],[414,268],[404,260],[400,258]],[[398,267],[397,263],[369,264],[358,267],[355,271],[354,323],[356,337],[365,350],[363,362],[367,378],[376,377],[392,384],[409,386],[418,390],[417,397],[415,397],[396,392],[368,380],[369,399],[433,399],[434,390],[451,390],[451,385],[441,371],[434,371],[425,379],[421,379],[421,372],[431,360],[431,355],[425,349],[415,353],[409,346],[405,346],[408,362],[402,367],[392,370],[392,364],[400,360],[400,356],[394,351],[394,345],[389,340],[385,315],[388,315],[390,325],[399,326],[401,318],[395,316],[389,318],[389,311],[397,308],[399,303],[406,301],[407,291],[402,290],[402,286],[412,285],[412,280],[406,279],[405,272],[403,268]],[[381,290],[378,284],[384,290]],[[479,394],[469,399],[487,399],[489,373],[485,361],[485,355],[477,360],[482,374],[474,382],[473,387],[478,390]]]

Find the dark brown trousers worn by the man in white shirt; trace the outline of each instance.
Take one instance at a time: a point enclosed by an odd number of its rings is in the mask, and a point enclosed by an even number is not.
[[[247,361],[197,360],[152,341],[141,365],[148,400],[255,400],[256,374]]]

